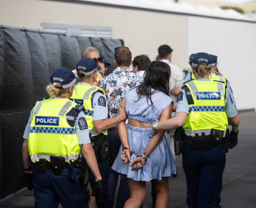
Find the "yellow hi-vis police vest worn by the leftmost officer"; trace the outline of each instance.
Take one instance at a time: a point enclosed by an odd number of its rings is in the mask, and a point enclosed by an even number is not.
[[[33,163],[41,158],[50,161],[50,155],[63,156],[66,162],[78,158],[81,146],[75,126],[69,126],[66,118],[76,105],[68,98],[36,103],[28,137],[29,155]]]

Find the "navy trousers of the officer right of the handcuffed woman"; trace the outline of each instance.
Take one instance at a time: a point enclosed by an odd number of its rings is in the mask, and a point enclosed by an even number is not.
[[[226,165],[223,144],[205,152],[191,150],[184,144],[182,158],[193,208],[213,208]]]

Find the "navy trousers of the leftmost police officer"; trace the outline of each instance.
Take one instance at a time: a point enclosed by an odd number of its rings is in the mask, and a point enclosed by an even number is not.
[[[69,169],[63,169],[61,176],[55,176],[51,169],[39,173],[34,169],[35,208],[81,208],[85,204],[86,186],[69,180]]]

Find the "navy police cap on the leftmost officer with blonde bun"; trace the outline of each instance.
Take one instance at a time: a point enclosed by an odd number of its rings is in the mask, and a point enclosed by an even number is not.
[[[81,80],[76,77],[75,74],[67,67],[61,67],[56,69],[51,76],[52,84],[54,82],[61,84],[61,87],[59,87],[59,89],[67,89],[76,84],[76,82],[80,81]]]

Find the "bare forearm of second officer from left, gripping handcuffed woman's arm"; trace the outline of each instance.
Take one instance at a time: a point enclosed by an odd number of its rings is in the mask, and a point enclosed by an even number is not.
[[[119,109],[119,114],[117,115],[117,119],[118,119],[119,123],[121,123],[121,121],[125,121],[127,119],[125,109],[124,109],[124,111],[122,108]],[[109,128],[117,125],[117,119],[115,117],[113,117],[111,119],[95,120],[95,121],[93,121],[93,126],[97,132],[101,132],[101,131],[104,131],[106,129],[109,129]]]

